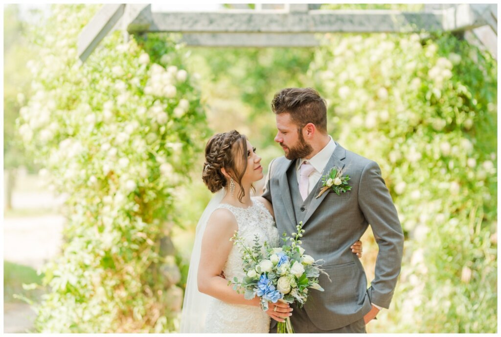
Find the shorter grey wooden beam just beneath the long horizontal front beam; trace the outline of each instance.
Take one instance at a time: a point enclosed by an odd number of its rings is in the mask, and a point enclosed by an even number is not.
[[[312,33],[184,33],[182,42],[196,47],[317,47],[320,45],[316,34]]]

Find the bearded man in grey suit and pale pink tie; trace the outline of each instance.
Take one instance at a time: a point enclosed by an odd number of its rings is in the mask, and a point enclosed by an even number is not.
[[[327,132],[326,103],[312,88],[286,88],[273,98],[285,157],[270,163],[263,197],[273,204],[279,233],[303,222],[302,247],[323,259],[329,274],[320,276],[325,292],[310,290],[303,308],[294,307],[297,333],[366,332],[365,324],[390,305],[402,261],[403,233],[391,196],[376,162],[346,150]],[[351,190],[319,196],[331,168],[349,176]],[[334,186],[334,185],[333,185]],[[367,279],[350,246],[371,225],[379,246],[375,278]],[[272,319],[270,332],[276,332]]]

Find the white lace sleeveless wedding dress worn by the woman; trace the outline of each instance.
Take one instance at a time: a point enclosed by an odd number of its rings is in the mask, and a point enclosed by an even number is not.
[[[254,198],[252,201],[253,205],[246,209],[228,204],[219,204],[217,208],[225,208],[233,213],[238,225],[238,235],[249,247],[254,245],[256,234],[261,244],[266,241],[269,247],[278,247],[280,236],[272,215],[261,202]],[[264,250],[264,247],[262,249]],[[233,246],[223,268],[227,280],[232,280],[235,276],[241,280],[245,276],[241,257],[238,247]],[[261,307],[229,304],[217,298],[210,298],[204,332],[268,333],[269,329],[270,316]]]

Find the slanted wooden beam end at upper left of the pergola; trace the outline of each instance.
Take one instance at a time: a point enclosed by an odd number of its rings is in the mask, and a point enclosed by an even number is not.
[[[78,36],[77,51],[82,62],[118,23],[124,14],[124,4],[103,5]]]

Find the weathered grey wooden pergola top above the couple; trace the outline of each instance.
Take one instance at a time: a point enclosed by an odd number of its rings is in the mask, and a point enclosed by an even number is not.
[[[497,58],[497,5],[425,5],[422,12],[319,10],[319,5],[256,5],[217,12],[152,12],[150,4],[104,5],[78,38],[89,57],[112,30],[129,34],[182,33],[189,46],[315,47],[316,34],[455,32]]]

